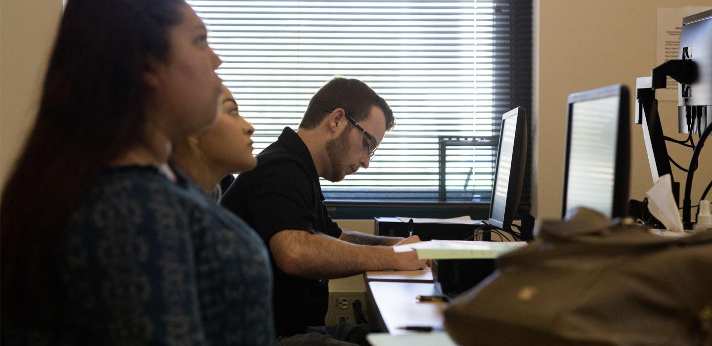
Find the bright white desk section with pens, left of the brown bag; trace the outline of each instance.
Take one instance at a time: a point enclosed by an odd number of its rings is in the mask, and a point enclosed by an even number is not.
[[[398,327],[430,326],[443,330],[444,302],[419,302],[417,295],[439,295],[432,283],[404,283],[393,281],[367,282],[369,294],[380,316],[379,323],[392,335],[412,334]]]

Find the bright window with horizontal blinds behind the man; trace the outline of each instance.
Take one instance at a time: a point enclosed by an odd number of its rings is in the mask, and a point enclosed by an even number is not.
[[[188,2],[256,128],[256,152],[296,129],[333,75],[363,80],[392,107],[397,125],[370,168],[322,182],[328,205],[486,214],[501,115],[530,110],[530,0]]]

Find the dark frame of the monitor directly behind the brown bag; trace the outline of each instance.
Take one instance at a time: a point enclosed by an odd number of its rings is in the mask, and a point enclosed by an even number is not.
[[[569,178],[569,154],[571,147],[571,126],[573,105],[587,100],[619,96],[618,129],[616,135],[616,157],[614,159],[613,203],[610,212],[612,218],[625,216],[628,203],[630,176],[630,118],[629,90],[622,84],[608,85],[603,88],[572,93],[567,100],[566,142],[564,147],[564,186],[561,198],[561,217],[566,216],[566,194]]]

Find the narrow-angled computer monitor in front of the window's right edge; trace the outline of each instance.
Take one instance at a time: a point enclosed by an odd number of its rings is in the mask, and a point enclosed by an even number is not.
[[[522,194],[528,142],[526,117],[523,107],[502,116],[488,223],[505,231],[511,231]]]

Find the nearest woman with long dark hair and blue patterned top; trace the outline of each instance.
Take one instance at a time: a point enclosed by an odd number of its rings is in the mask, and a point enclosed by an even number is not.
[[[183,0],[69,0],[0,206],[8,344],[273,340],[260,238],[172,172],[221,61]]]

